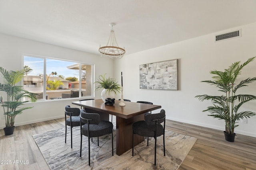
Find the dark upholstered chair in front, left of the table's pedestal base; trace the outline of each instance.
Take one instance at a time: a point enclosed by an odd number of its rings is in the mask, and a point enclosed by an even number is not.
[[[85,123],[85,125],[82,125]],[[80,111],[80,133],[81,133],[81,144],[80,144],[80,157],[82,154],[82,135],[88,137],[88,158],[90,166],[90,137],[99,137],[107,134],[112,134],[112,156],[114,155],[113,150],[113,124],[110,121],[100,121],[100,115],[98,113],[86,113],[84,109]]]

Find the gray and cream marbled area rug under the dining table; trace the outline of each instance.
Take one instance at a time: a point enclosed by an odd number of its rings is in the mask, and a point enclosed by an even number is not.
[[[115,128],[115,127],[114,127]],[[116,155],[116,130],[114,129],[114,156],[112,156],[111,134],[90,142],[90,161],[88,166],[88,137],[82,138],[82,157],[80,157],[80,127],[73,127],[73,148],[70,145],[70,127],[67,143],[65,128],[33,135],[40,151],[52,170],[177,170],[196,142],[196,138],[172,131],[165,131],[166,156],[163,152],[163,136],[157,138],[156,166],[154,166],[154,138],[149,138],[121,156]],[[132,139],[130,139],[132,140]]]

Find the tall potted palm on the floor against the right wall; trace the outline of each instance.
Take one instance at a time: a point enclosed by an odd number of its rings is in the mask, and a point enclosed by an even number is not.
[[[202,82],[209,83],[210,85],[216,86],[220,92],[224,92],[222,96],[209,96],[207,94],[198,95],[201,102],[204,100],[211,100],[213,106],[208,106],[206,110],[209,111],[210,115],[214,118],[223,119],[225,121],[225,139],[229,142],[234,142],[235,133],[234,128],[237,127],[236,123],[240,119],[250,118],[255,115],[252,111],[238,111],[238,109],[246,102],[256,100],[256,96],[250,94],[236,94],[236,91],[241,88],[248,86],[249,83],[254,82],[254,78],[246,78],[236,85],[236,79],[241,74],[242,68],[248,63],[253,61],[255,57],[248,59],[245,63],[240,65],[240,61],[235,62],[224,72],[213,70],[210,74],[214,74],[212,77],[214,80],[204,80]]]

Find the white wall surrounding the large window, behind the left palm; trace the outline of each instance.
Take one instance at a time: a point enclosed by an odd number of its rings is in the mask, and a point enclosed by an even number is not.
[[[105,59],[101,58],[100,55],[0,34],[0,66],[8,70],[20,70],[22,68],[22,54],[24,53],[95,64],[96,79],[99,75],[105,73],[111,77],[114,74],[112,59]],[[0,82],[2,82],[2,77],[0,77]],[[95,98],[100,98],[100,92],[95,92]],[[78,99],[50,100],[26,104],[26,106],[34,107],[23,111],[21,115],[17,115],[14,125],[18,126],[64,117],[64,107],[66,105],[78,107],[71,104],[73,101],[78,101]],[[0,128],[5,127],[2,115],[3,109],[0,107]]]

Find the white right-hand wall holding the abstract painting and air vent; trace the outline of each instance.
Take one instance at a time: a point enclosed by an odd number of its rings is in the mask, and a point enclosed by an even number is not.
[[[242,29],[242,37],[214,42],[216,34],[236,29]],[[122,59],[114,61],[114,76],[117,80],[120,81],[123,72],[124,98],[133,102],[144,100],[161,105],[166,110],[167,119],[224,130],[223,120],[213,119],[207,116],[209,113],[202,112],[211,102],[200,102],[194,97],[218,93],[214,86],[200,82],[211,80],[210,70],[224,70],[236,61],[244,63],[248,58],[256,56],[256,23],[218,33],[124,55]],[[178,59],[178,91],[139,89],[140,64],[171,59]],[[244,67],[239,78],[244,80],[248,77],[256,77],[256,60]],[[256,95],[256,82],[240,91]],[[256,112],[256,101],[244,105],[243,109]],[[247,124],[239,123],[235,133],[256,137],[255,123],[256,116],[248,119]]]

